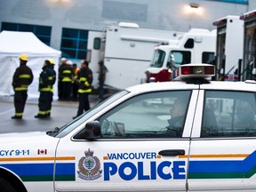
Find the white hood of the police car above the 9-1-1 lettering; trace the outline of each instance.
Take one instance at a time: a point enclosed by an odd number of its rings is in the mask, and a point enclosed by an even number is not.
[[[12,132],[0,134],[0,143],[33,142],[40,140],[57,140],[46,134],[46,132]]]

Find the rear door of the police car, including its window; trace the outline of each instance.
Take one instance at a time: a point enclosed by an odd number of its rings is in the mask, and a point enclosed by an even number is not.
[[[235,88],[214,84],[204,84],[205,90],[200,91],[189,157],[188,189],[255,191],[255,88],[246,90],[244,83],[237,83]]]

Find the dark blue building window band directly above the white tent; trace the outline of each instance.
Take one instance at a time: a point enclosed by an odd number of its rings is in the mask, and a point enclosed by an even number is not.
[[[2,22],[1,31],[3,31],[3,30],[32,32],[44,44],[47,44],[50,46],[50,43],[51,43],[52,27]]]

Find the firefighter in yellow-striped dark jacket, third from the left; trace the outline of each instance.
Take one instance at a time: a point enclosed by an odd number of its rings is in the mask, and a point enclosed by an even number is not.
[[[71,67],[71,65],[68,64],[68,62],[62,62],[59,73],[60,81],[62,84],[61,100],[70,100],[73,68]]]

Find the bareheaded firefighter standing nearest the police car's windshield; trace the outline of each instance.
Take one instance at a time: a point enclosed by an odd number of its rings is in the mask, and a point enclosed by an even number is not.
[[[89,103],[89,93],[92,92],[92,70],[88,67],[89,63],[87,60],[81,61],[81,69],[78,72],[77,78],[79,80],[79,87],[78,87],[78,93],[79,93],[79,106],[77,110],[77,115],[73,118],[76,118],[77,116],[80,116],[84,113],[84,111],[87,111],[90,109],[90,103]]]

